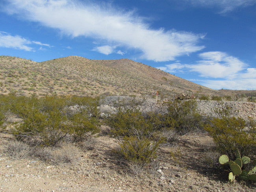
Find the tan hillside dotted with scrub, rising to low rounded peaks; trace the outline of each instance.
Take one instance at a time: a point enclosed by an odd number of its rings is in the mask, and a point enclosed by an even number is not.
[[[47,95],[230,95],[129,59],[92,60],[69,56],[37,63],[0,56],[0,92]]]

